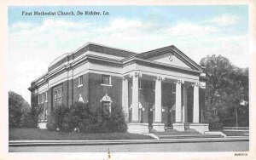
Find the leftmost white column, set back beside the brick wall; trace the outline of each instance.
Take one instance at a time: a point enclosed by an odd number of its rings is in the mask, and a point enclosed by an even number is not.
[[[125,113],[125,121],[129,122],[128,79],[125,77],[123,78],[122,106]]]

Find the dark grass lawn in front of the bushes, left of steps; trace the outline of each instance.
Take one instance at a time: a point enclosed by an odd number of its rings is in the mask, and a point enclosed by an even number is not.
[[[129,133],[65,133],[47,129],[9,129],[9,140],[152,140],[143,134]]]

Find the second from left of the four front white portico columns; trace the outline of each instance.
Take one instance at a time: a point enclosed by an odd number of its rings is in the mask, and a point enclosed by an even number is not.
[[[155,123],[162,122],[162,78],[157,77],[155,80]]]

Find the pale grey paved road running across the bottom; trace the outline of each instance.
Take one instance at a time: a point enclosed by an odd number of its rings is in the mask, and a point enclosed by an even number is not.
[[[249,141],[131,144],[102,146],[11,146],[10,152],[172,152],[172,151],[248,151]]]

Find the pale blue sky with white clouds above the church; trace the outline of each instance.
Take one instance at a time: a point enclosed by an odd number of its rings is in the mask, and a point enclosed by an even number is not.
[[[22,15],[22,12],[75,15]],[[77,11],[108,15],[76,15]],[[247,5],[178,6],[10,6],[8,11],[9,90],[30,103],[31,82],[61,54],[85,43],[100,43],[137,53],[174,45],[199,63],[221,54],[248,67]]]

